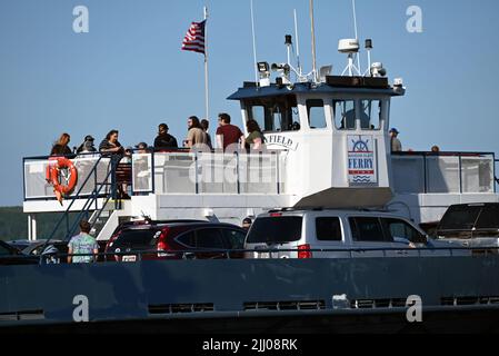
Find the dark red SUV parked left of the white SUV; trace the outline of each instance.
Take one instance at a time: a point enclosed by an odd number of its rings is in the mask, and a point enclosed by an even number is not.
[[[242,258],[246,230],[230,224],[170,221],[127,226],[106,246],[107,260]]]

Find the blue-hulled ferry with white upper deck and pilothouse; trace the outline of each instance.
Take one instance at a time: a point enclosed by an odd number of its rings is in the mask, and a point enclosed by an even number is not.
[[[292,39],[287,37],[288,51]],[[372,41],[368,40],[370,51]],[[99,240],[120,222],[203,219],[239,225],[271,209],[385,209],[420,222],[447,207],[498,202],[492,152],[391,152],[391,100],[406,95],[380,62],[356,75],[357,39],[340,40],[343,75],[303,76],[288,60],[258,63],[258,82],[229,96],[242,127],[257,120],[261,152],[151,151],[132,156],[132,194],[116,195],[112,158],[77,157],[61,207],[48,157],[24,158],[24,212],[61,212],[54,230],[89,218]],[[272,72],[276,77],[272,78]],[[296,80],[293,80],[296,77]],[[248,134],[248,132],[246,132]],[[114,189],[113,189],[114,188]],[[47,237],[46,237],[47,238]],[[0,267],[0,332],[150,328],[167,332],[498,330],[499,258],[178,260]],[[425,324],[410,324],[411,296]],[[416,299],[417,300],[417,299]],[[456,319],[459,317],[459,319]],[[146,323],[147,322],[147,323]],[[473,323],[476,322],[476,323]]]

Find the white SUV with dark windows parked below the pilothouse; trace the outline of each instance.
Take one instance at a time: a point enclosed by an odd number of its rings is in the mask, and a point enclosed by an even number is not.
[[[246,258],[470,255],[458,244],[430,239],[405,218],[371,210],[272,210],[255,220],[244,249],[251,250]]]

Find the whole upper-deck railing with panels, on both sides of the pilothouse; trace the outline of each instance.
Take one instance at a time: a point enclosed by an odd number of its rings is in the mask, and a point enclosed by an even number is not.
[[[286,191],[283,151],[168,152],[133,154],[129,186],[133,195],[275,194]],[[79,177],[87,177],[100,156],[78,156],[73,164]],[[94,176],[80,180],[74,191],[87,198],[111,169],[111,159],[102,157]],[[495,154],[482,152],[401,152],[393,154],[391,171],[398,194],[493,194],[496,192]],[[54,199],[47,181],[49,157],[24,158],[24,201]],[[102,191],[102,196],[109,191]],[[69,199],[74,198],[69,196]]]

